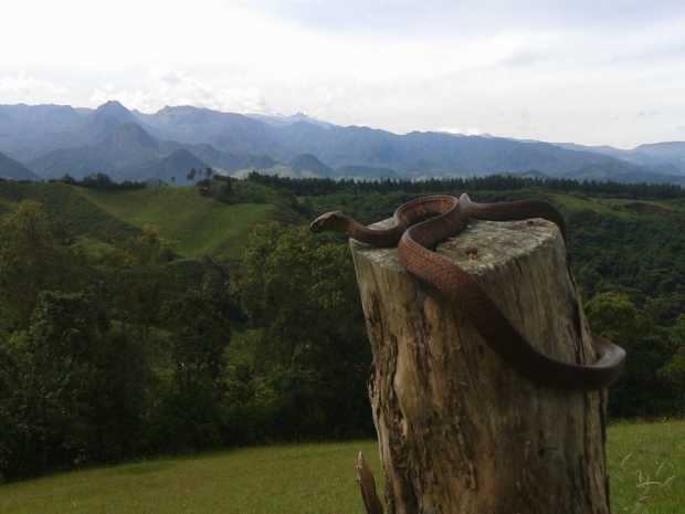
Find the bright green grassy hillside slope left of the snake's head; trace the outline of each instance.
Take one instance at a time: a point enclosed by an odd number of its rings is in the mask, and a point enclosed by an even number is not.
[[[271,203],[226,204],[201,197],[194,188],[94,191],[80,195],[107,213],[143,228],[154,224],[162,238],[187,256],[236,256],[252,227],[272,218]]]

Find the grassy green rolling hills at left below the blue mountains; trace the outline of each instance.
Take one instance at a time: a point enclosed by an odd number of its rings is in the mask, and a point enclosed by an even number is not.
[[[99,191],[57,182],[0,182],[0,213],[21,200],[34,200],[72,238],[120,243],[151,224],[182,256],[233,258],[254,225],[275,217],[299,220],[271,190],[244,196],[254,200],[223,203],[193,187]]]

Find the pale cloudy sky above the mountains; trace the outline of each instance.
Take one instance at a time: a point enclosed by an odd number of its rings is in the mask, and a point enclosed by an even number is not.
[[[685,2],[3,0],[0,103],[685,140]]]

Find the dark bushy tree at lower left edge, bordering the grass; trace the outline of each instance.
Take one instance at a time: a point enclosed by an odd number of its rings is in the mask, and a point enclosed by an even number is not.
[[[4,353],[4,356],[2,354]],[[28,331],[0,358],[0,472],[8,478],[63,462],[120,458],[138,445],[147,366],[140,346],[110,324],[85,293],[40,294]]]

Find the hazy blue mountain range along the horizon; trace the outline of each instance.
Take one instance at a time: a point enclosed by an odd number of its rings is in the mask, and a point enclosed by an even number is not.
[[[295,177],[378,179],[495,172],[685,185],[685,143],[609,146],[545,143],[439,132],[404,135],[339,126],[302,113],[241,115],[193,106],[147,114],[110,101],[0,105],[0,177],[187,183],[190,168],[230,175],[257,169]]]

